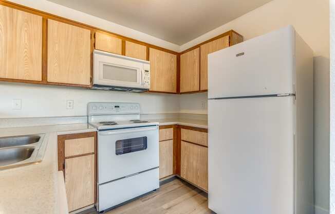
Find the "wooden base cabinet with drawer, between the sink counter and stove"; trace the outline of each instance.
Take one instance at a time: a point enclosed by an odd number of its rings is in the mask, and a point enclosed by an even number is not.
[[[58,136],[58,169],[70,212],[96,202],[96,137],[96,132]]]

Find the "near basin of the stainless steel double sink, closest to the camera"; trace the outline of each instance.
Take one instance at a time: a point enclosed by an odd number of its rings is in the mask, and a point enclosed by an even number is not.
[[[31,156],[34,150],[34,147],[0,149],[0,167],[25,161]]]

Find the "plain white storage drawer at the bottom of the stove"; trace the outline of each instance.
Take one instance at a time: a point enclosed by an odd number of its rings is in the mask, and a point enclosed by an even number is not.
[[[158,188],[158,168],[99,185],[98,211],[116,206]]]

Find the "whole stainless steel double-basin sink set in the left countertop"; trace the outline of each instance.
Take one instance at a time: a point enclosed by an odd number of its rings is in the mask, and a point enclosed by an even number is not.
[[[0,137],[0,170],[41,162],[47,134]]]

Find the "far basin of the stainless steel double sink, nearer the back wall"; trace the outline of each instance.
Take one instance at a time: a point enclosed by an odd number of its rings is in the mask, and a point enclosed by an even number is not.
[[[26,146],[34,144],[41,139],[39,135],[14,136],[14,137],[0,137],[0,148]]]

